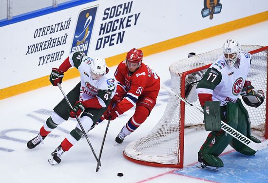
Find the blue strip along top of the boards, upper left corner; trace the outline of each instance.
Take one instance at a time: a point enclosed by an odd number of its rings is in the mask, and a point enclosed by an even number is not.
[[[24,13],[24,14],[21,14],[18,16],[14,16],[14,17],[12,17],[11,20],[7,20],[7,18],[0,19],[0,27],[5,26],[5,25],[9,25],[12,23],[17,23],[17,22],[23,21],[23,20],[36,18],[36,17],[42,16],[42,15],[54,13],[54,12],[57,12],[60,10],[64,10],[67,8],[71,8],[74,6],[78,6],[78,5],[85,4],[88,2],[93,2],[93,1],[96,1],[96,0],[70,0],[68,2],[63,2],[63,3],[58,4],[57,8],[53,8],[53,6],[50,6],[50,7],[42,8],[42,9],[35,10],[32,12]]]

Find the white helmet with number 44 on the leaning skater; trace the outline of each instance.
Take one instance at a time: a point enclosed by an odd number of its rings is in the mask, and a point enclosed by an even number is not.
[[[94,79],[101,78],[106,72],[106,61],[104,58],[95,58],[91,64],[91,73]]]

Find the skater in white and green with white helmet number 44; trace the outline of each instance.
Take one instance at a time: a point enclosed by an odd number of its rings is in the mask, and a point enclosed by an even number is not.
[[[53,86],[61,83],[63,73],[72,66],[80,73],[81,81],[67,94],[73,109],[63,98],[53,109],[54,112],[40,128],[39,134],[27,143],[28,148],[35,148],[59,124],[67,121],[69,117],[76,118],[81,113],[80,122],[87,132],[94,128],[97,120],[107,110],[111,98],[115,95],[117,81],[113,73],[106,67],[105,59],[91,58],[82,52],[70,54],[59,68],[52,68],[49,77]],[[52,160],[60,163],[60,156],[68,151],[83,136],[82,129],[77,124],[61,144],[52,152]],[[49,161],[49,162],[55,162]]]

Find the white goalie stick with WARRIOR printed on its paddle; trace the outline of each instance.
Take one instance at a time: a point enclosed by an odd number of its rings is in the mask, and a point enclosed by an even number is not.
[[[176,94],[174,91],[172,91],[170,88],[166,87],[165,85],[163,85],[162,88],[165,89],[166,91],[174,94],[179,100],[185,102],[186,104],[188,104],[188,105],[190,105],[192,107],[195,107],[200,112],[204,113],[203,110],[199,109],[197,106],[194,106],[193,104],[188,102],[185,98],[183,98],[180,95]],[[245,135],[243,135],[242,133],[237,131],[236,129],[234,129],[234,128],[230,127],[228,124],[224,123],[223,121],[221,121],[221,128],[222,128],[222,130],[224,130],[228,134],[230,134],[233,138],[239,140],[240,142],[242,142],[246,146],[249,146],[251,149],[253,149],[255,151],[261,150],[261,149],[263,149],[263,148],[268,146],[267,141],[266,141],[266,143],[260,143],[260,144],[255,143],[252,140],[250,140],[248,137],[246,137]]]

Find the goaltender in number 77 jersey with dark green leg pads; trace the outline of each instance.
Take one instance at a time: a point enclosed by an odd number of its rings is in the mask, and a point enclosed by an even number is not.
[[[211,64],[196,87],[200,104],[206,108],[210,101],[220,101],[221,120],[252,141],[260,143],[250,135],[249,115],[238,98],[241,94],[246,104],[252,107],[258,107],[264,101],[263,91],[255,91],[251,82],[246,80],[251,55],[241,52],[241,46],[233,38],[227,39],[224,43],[223,53],[224,55]],[[252,96],[255,100],[252,100]],[[198,161],[204,166],[223,167],[223,162],[218,156],[228,144],[245,155],[254,155],[256,152],[223,130],[211,131],[198,152]]]

